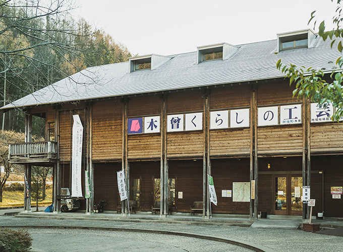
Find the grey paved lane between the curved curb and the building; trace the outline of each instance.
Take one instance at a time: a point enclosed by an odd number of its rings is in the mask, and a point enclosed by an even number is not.
[[[163,230],[174,232],[196,233],[200,235],[217,236],[226,239],[240,240],[259,244],[275,251],[343,251],[343,237],[331,236],[324,234],[316,234],[305,232],[302,230],[285,230],[285,229],[267,229],[267,228],[246,228],[246,227],[220,227],[220,226],[197,226],[185,224],[160,224],[160,223],[132,223],[132,222],[117,222],[117,221],[86,221],[86,220],[65,220],[65,219],[36,219],[36,218],[15,218],[13,216],[0,216],[0,225],[5,226],[86,226],[86,227],[112,227],[112,228],[134,228],[146,230]],[[79,231],[77,229],[71,231]],[[48,230],[43,230],[43,233]],[[94,231],[92,231],[94,232]],[[102,231],[96,231],[102,232]],[[115,232],[117,233],[117,232]],[[124,234],[131,235],[129,232]],[[132,234],[135,237],[137,233]],[[140,234],[143,235],[143,234]],[[144,236],[148,233],[144,233]],[[155,237],[154,240],[144,240],[153,242],[164,240],[157,238],[156,234],[151,234]],[[166,235],[168,236],[168,235]],[[169,237],[169,236],[168,236]],[[165,245],[175,245],[178,240],[184,237],[171,238],[174,243]],[[133,238],[134,239],[134,238]],[[168,240],[169,238],[165,238]],[[196,239],[199,240],[199,239]],[[207,241],[212,243],[213,241]],[[186,242],[187,243],[187,242]],[[206,243],[206,241],[205,241]],[[219,242],[221,243],[221,242]],[[189,244],[192,244],[189,242]],[[193,244],[198,244],[196,241]],[[133,246],[135,247],[135,246]],[[192,247],[192,246],[191,246]],[[183,247],[182,247],[183,248]],[[188,250],[188,248],[184,248]],[[219,249],[219,248],[218,248]],[[129,249],[131,250],[131,249]],[[159,249],[156,249],[159,250]],[[63,250],[62,250],[63,251]],[[86,250],[87,251],[87,250]],[[168,250],[169,251],[169,250]],[[178,250],[175,250],[178,251]],[[196,250],[199,251],[198,247]],[[216,249],[208,249],[207,251],[220,251]],[[227,251],[227,250],[226,250]]]

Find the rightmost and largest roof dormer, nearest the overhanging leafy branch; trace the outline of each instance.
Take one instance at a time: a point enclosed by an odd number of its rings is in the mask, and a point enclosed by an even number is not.
[[[300,47],[313,47],[317,34],[311,29],[277,34],[277,52]]]

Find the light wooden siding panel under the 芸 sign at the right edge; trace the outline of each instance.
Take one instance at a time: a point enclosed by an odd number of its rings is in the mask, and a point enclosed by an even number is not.
[[[311,153],[343,152],[343,123],[311,123]]]

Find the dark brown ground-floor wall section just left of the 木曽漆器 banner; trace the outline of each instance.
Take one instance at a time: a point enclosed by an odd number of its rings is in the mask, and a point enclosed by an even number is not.
[[[104,210],[117,210],[120,203],[117,183],[117,171],[122,163],[94,164],[94,203],[106,201]]]

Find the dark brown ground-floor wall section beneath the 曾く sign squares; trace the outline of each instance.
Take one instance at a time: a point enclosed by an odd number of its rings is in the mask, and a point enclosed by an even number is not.
[[[169,161],[169,178],[176,179],[176,207],[178,212],[191,211],[195,201],[202,201],[202,159],[197,161]],[[183,198],[178,199],[178,192],[183,192]]]

